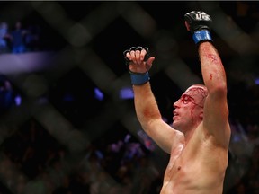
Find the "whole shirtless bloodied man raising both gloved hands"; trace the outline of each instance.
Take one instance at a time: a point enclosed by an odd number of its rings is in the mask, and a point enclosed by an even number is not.
[[[173,126],[162,119],[151,91],[148,70],[155,57],[148,48],[124,51],[138,120],[170,160],[161,194],[222,194],[228,166],[227,82],[224,66],[210,36],[210,15],[184,15],[198,48],[204,84],[193,84],[174,102]]]

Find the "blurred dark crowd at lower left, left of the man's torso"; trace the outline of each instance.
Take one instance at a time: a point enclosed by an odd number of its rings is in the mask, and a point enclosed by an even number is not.
[[[155,194],[160,190],[163,170],[150,158],[155,155],[129,134],[71,155],[31,119],[5,139],[1,149],[0,174],[7,185],[0,193]]]

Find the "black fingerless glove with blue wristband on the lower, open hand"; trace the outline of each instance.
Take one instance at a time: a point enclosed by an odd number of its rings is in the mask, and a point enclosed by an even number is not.
[[[124,56],[124,59],[125,59],[125,62],[126,62],[126,66],[128,67],[129,69],[129,63],[131,63],[132,61],[129,60],[128,57],[126,57],[126,54],[132,50],[139,50],[141,51],[142,49],[145,49],[147,51],[147,54],[144,58],[145,61],[147,61],[147,58],[149,56],[149,51],[148,51],[148,48],[142,48],[142,47],[131,47],[129,48],[129,50],[125,50],[123,52],[123,56]],[[147,83],[149,80],[150,80],[150,77],[149,77],[149,74],[148,74],[148,71],[146,73],[138,73],[138,72],[132,72],[129,70],[129,75],[130,75],[130,79],[131,79],[131,84],[135,84],[135,85],[141,85],[141,84],[145,84]]]

